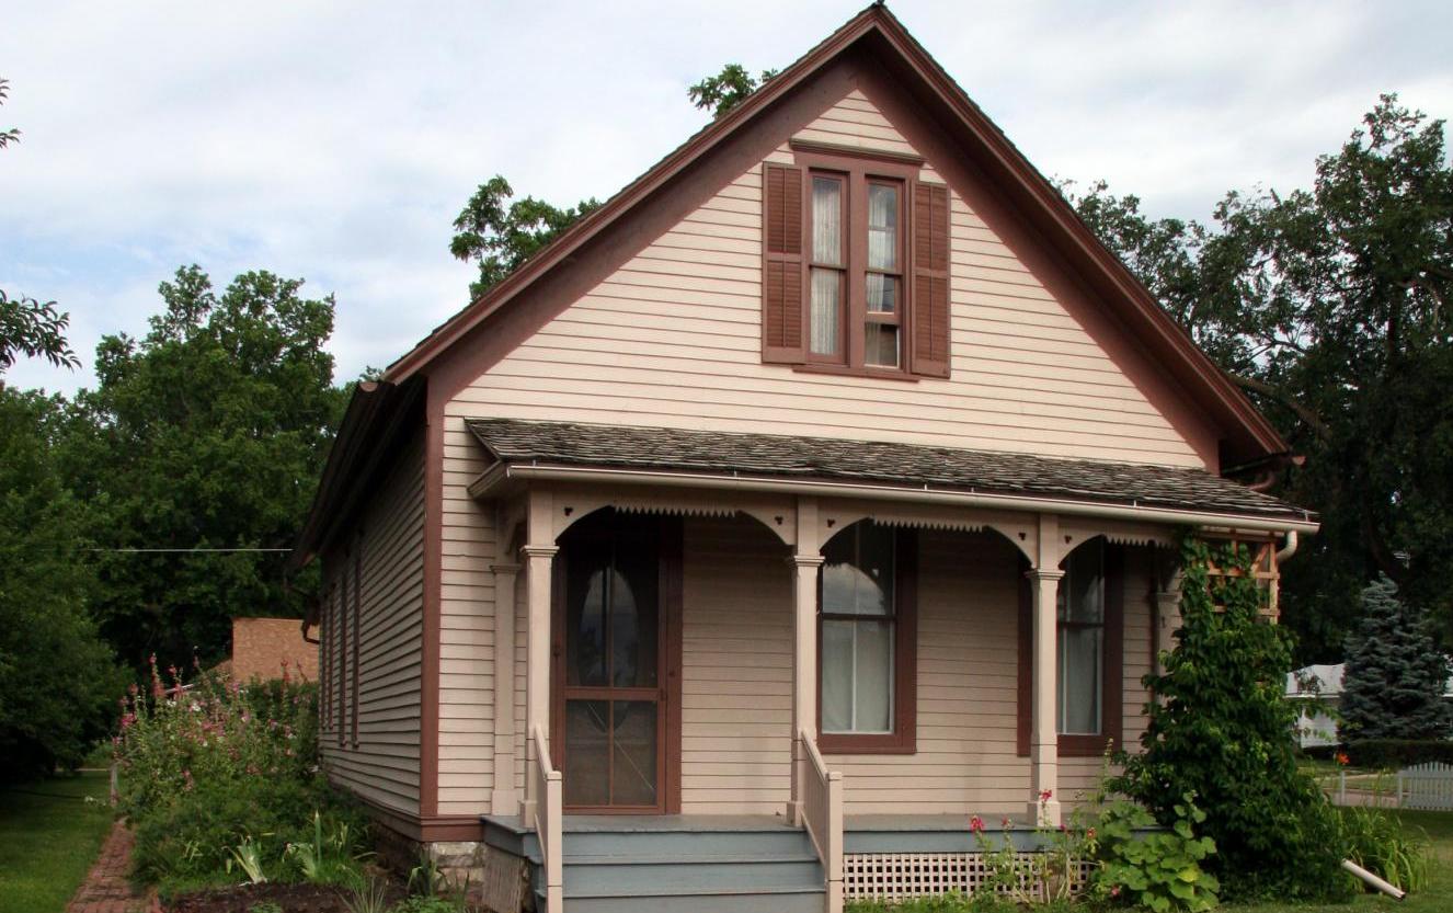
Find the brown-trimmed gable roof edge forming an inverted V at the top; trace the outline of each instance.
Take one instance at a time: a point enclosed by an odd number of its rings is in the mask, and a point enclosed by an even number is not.
[[[522,292],[555,270],[568,270],[574,254],[609,231],[652,193],[751,124],[776,102],[851,49],[862,48],[892,76],[895,84],[934,115],[936,124],[971,157],[1039,234],[1085,279],[1120,324],[1154,358],[1178,388],[1222,429],[1222,465],[1255,464],[1284,455],[1287,445],[1247,395],[1171,320],[1094,233],[1069,202],[989,121],[933,57],[881,3],[869,6],[808,51],[742,103],[581,218],[510,276],[475,298],[389,365],[385,382],[427,375],[430,365],[504,313]]]

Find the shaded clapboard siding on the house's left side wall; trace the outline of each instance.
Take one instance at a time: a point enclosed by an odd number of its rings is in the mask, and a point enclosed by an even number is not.
[[[420,657],[423,622],[424,443],[417,435],[347,536],[362,551],[359,587],[359,743],[352,741],[352,602],[355,557],[334,551],[324,577],[347,576],[347,650],[334,625],[323,628],[330,656],[328,692],[334,709],[320,736],[323,759],[334,784],[368,801],[404,813],[418,813]],[[337,590],[341,592],[341,590]],[[331,618],[337,618],[337,606]],[[327,619],[325,619],[327,622]],[[337,715],[337,695],[346,714]],[[339,744],[339,727],[343,744]]]

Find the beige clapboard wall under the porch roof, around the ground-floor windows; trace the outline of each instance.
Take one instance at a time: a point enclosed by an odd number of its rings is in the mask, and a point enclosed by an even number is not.
[[[1017,755],[1019,552],[994,534],[920,534],[914,755],[830,755],[849,814],[1023,811]],[[1132,550],[1132,554],[1133,550]],[[748,520],[687,519],[683,587],[681,811],[779,811],[792,733],[792,589],[783,547]],[[742,568],[753,573],[744,574]],[[1144,728],[1149,663],[1145,563],[1125,577],[1125,736]],[[1061,795],[1101,762],[1064,759]]]

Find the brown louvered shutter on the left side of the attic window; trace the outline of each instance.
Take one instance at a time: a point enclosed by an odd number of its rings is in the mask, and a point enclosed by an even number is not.
[[[802,346],[802,169],[761,174],[761,361],[796,363]]]

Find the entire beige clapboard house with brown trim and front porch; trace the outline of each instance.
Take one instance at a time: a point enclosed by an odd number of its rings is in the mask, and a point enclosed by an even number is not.
[[[495,909],[971,888],[1144,730],[1177,531],[1274,592],[1286,455],[875,4],[359,387],[328,775]]]

